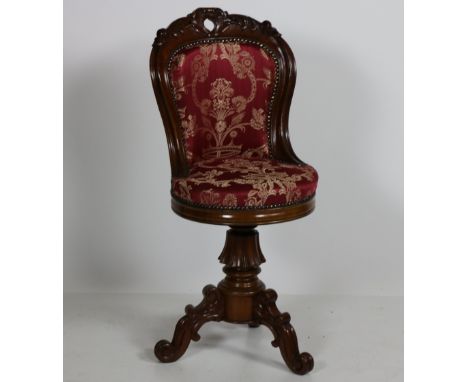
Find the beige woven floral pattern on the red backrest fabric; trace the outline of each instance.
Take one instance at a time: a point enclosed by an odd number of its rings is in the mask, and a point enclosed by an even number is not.
[[[176,62],[183,62],[184,59],[185,57],[178,58]],[[248,96],[236,95],[231,81],[217,78],[210,84],[209,99],[200,100],[198,98],[197,84],[207,80],[210,63],[213,60],[228,60],[233,74],[237,78],[249,80],[250,92]],[[202,149],[203,158],[226,158],[239,155],[242,152],[242,144],[234,142],[239,133],[245,132],[247,127],[252,127],[255,130],[265,128],[265,112],[261,108],[254,108],[251,120],[244,121],[247,104],[254,100],[257,93],[257,81],[263,81],[265,87],[271,84],[270,70],[264,70],[266,78],[255,78],[254,69],[254,58],[248,51],[242,50],[239,44],[217,43],[200,46],[198,54],[192,61],[191,84],[185,84],[183,76],[173,79],[176,99],[180,100],[181,95],[187,94],[187,88],[191,87],[192,100],[201,112],[198,130],[208,143],[207,147]],[[190,129],[197,128],[195,122],[194,116],[191,117],[190,121],[182,121],[184,134],[186,132],[192,134]],[[195,134],[195,130],[193,134]],[[268,146],[257,151],[257,154],[260,153],[267,154]]]

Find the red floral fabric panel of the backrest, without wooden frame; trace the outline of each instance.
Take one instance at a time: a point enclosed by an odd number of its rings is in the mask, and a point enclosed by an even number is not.
[[[189,164],[268,157],[275,73],[275,61],[255,44],[216,42],[177,52],[170,77]]]

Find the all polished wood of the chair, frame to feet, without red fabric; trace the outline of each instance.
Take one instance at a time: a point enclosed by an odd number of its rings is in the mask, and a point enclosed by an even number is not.
[[[205,21],[213,27],[208,29]],[[294,153],[289,140],[289,108],[296,82],[293,53],[269,21],[258,22],[248,16],[231,15],[219,8],[199,8],[177,19],[157,32],[150,57],[150,72],[154,93],[166,132],[171,174],[186,177],[186,160],[179,115],[170,86],[169,62],[180,47],[217,41],[255,41],[272,52],[278,67],[278,92],[272,99],[269,145],[272,159],[304,164]],[[260,264],[265,261],[260,250],[257,225],[281,223],[310,214],[315,199],[270,208],[218,209],[201,208],[172,198],[173,211],[190,220],[208,224],[229,225],[226,244],[219,257],[225,265],[226,277],[218,286],[203,289],[203,300],[197,306],[188,305],[178,321],[171,341],[161,340],[154,349],[161,362],[173,362],[187,350],[190,342],[198,341],[198,330],[210,321],[248,324],[251,328],[267,326],[273,333],[272,345],[279,347],[287,366],[296,374],[312,370],[314,361],[309,353],[300,353],[297,337],[288,313],[276,306],[277,294],[258,278]]]

